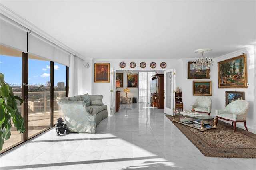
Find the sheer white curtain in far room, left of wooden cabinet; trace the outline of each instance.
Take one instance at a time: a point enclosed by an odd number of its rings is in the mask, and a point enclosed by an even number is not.
[[[150,81],[155,72],[139,72],[139,102],[150,103]]]

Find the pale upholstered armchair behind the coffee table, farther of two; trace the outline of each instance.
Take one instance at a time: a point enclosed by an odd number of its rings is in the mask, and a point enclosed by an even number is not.
[[[195,103],[191,105],[191,108],[194,108],[197,112],[210,115],[212,111],[212,99],[207,96],[200,96],[196,99]]]

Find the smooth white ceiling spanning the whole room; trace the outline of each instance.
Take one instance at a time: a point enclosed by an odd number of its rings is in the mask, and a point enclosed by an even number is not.
[[[219,57],[256,44],[255,0],[0,0],[88,59]]]

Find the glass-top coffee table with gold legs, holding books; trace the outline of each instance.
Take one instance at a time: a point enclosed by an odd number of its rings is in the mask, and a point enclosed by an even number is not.
[[[176,116],[176,113],[174,113],[174,116],[173,116],[173,119],[172,121],[173,122],[177,122],[177,123],[181,123],[183,125],[186,125],[186,126],[190,126],[190,127],[193,127],[193,128],[196,128],[196,129],[199,129],[201,132],[203,132],[204,130],[208,130],[208,129],[216,129],[217,126],[216,126],[216,116],[210,116],[210,115],[207,115],[207,114],[204,114],[204,113],[199,113],[199,112],[179,112],[178,114],[180,115],[184,115],[185,118],[187,117],[191,117],[192,120],[188,120],[188,121],[184,121],[184,120],[176,120],[175,119],[175,116]],[[182,118],[181,118],[182,119]],[[209,123],[209,120],[210,119],[213,119],[214,121],[214,125],[210,125]]]

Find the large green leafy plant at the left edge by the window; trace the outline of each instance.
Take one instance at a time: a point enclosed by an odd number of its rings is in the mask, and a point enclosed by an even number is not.
[[[20,97],[14,96],[12,87],[4,82],[4,75],[0,73],[0,150],[3,148],[4,140],[11,136],[11,118],[17,131],[25,132],[24,118],[18,111],[16,99],[20,101],[20,105],[23,103]]]

